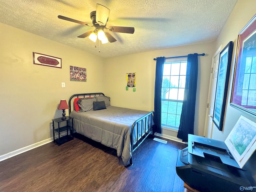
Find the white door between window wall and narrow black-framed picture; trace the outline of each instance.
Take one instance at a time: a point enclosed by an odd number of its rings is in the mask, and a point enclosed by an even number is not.
[[[210,75],[210,84],[208,91],[208,100],[207,100],[207,108],[206,108],[206,117],[204,123],[204,137],[212,138],[212,128],[213,128],[213,111],[214,111],[214,101],[215,101],[215,93],[216,93],[216,83],[218,76],[218,64],[220,58],[220,51],[222,49],[222,45],[215,52],[212,57],[212,68]]]

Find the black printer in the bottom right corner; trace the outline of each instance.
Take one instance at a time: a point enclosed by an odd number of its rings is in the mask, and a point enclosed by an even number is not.
[[[176,173],[200,192],[256,191],[256,153],[243,168],[225,142],[188,135],[188,147],[178,150]]]

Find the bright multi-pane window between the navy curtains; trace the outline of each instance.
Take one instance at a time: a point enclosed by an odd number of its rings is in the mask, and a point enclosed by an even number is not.
[[[172,59],[164,63],[162,82],[162,126],[178,129],[186,83],[187,61]]]

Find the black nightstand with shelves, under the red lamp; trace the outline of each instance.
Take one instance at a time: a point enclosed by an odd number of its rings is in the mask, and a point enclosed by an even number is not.
[[[60,127],[61,122],[65,124],[65,126]],[[58,127],[54,126],[54,124],[58,124]],[[74,133],[74,122],[73,117],[66,116],[66,119],[56,118],[52,119],[52,127],[53,127],[53,142],[56,142],[58,145],[66,143],[70,140],[73,140],[73,133]],[[69,133],[68,133],[69,131]],[[62,136],[62,134],[65,134]]]

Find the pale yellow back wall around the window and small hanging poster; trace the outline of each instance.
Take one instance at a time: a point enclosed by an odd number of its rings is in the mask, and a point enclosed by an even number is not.
[[[172,57],[188,55],[190,53],[205,53],[206,56],[198,56],[198,87],[194,122],[194,133],[203,136],[214,48],[215,43],[208,42],[107,58],[104,61],[105,94],[111,97],[111,105],[113,106],[152,111],[154,110],[156,70],[156,61],[153,59],[160,56]],[[136,92],[132,92],[132,88],[126,91],[126,73],[131,72],[136,72]],[[177,133],[163,130],[163,135],[160,136],[176,137]]]

